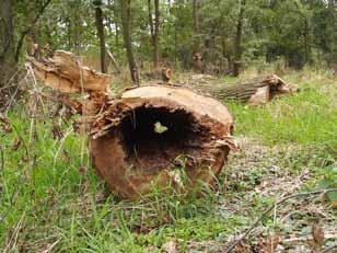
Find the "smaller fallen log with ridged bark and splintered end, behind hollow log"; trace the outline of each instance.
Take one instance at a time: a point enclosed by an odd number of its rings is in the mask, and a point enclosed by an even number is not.
[[[294,92],[295,89],[276,74],[257,78],[246,83],[221,85],[209,92],[221,101],[241,101],[252,105],[264,104],[277,95]]]

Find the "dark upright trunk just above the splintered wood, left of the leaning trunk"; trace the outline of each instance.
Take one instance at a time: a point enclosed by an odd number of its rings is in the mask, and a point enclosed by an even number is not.
[[[101,49],[101,71],[106,73],[106,50],[105,50],[105,35],[104,35],[104,25],[103,25],[103,12],[101,9],[102,1],[95,1],[95,20],[96,20],[96,30],[97,36],[100,39],[100,49]]]

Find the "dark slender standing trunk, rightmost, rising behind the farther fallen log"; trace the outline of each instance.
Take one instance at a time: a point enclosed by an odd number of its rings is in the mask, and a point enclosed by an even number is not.
[[[235,36],[235,57],[234,57],[234,65],[233,65],[233,76],[237,77],[242,67],[241,57],[242,57],[242,27],[243,27],[243,15],[245,11],[246,0],[241,0],[240,2],[240,11],[239,11],[239,20],[236,26],[236,36]]]

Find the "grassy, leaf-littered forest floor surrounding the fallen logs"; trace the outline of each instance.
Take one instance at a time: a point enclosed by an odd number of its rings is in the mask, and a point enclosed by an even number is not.
[[[175,79],[201,87],[237,81],[190,77]],[[248,77],[247,71],[241,78]],[[72,133],[71,119],[51,117],[59,112],[55,105],[45,104],[33,117],[30,101],[14,106],[12,131],[0,130],[0,249],[222,252],[277,199],[337,187],[336,78],[322,70],[282,78],[301,92],[258,107],[228,104],[242,149],[231,153],[213,188],[185,198],[154,192],[137,203],[118,199],[90,168],[85,139]],[[325,231],[324,245],[332,245],[336,200],[333,195],[290,199],[266,215],[242,248],[262,252],[277,237],[277,251],[305,252],[316,223]]]

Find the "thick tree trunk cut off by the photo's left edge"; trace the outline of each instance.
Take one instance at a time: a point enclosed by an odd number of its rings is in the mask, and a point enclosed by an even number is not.
[[[13,1],[0,1],[0,88],[8,84],[16,69]],[[0,90],[0,107],[5,102],[9,90]]]

